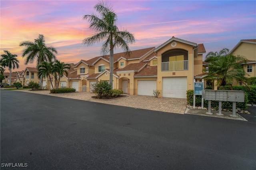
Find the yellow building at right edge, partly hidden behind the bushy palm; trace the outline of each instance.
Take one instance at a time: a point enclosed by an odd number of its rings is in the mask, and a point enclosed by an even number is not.
[[[256,39],[240,40],[240,42],[230,51],[233,55],[242,55],[247,58],[244,69],[249,75],[247,77],[256,77]],[[233,85],[242,85],[242,82],[234,81]]]

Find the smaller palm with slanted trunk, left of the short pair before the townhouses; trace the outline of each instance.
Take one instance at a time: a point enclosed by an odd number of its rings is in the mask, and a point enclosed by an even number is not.
[[[47,62],[47,61],[43,61],[41,64],[37,65],[37,69],[38,69],[38,78],[42,77],[42,78],[49,78],[50,79],[50,83],[52,85],[52,89],[54,89],[53,84],[52,84],[52,79],[51,79],[51,74],[53,73],[53,61]]]

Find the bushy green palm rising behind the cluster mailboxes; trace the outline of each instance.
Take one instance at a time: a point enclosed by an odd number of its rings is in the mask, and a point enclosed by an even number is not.
[[[246,85],[248,75],[240,63],[246,63],[246,58],[240,55],[222,55],[214,61],[211,61],[208,66],[208,73],[204,77],[206,80],[217,79],[217,87],[230,85],[232,88],[233,80],[242,82]]]

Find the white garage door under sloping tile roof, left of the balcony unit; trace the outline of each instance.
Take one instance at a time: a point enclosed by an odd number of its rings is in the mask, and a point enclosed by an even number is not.
[[[156,80],[138,80],[138,95],[154,96]]]

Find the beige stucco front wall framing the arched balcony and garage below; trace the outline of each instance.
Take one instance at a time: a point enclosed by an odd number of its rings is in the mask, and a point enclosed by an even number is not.
[[[171,42],[172,43],[172,42]],[[157,51],[158,66],[157,66],[157,90],[160,92],[159,97],[162,97],[162,78],[163,77],[187,77],[187,90],[193,89],[193,47],[181,42],[176,42],[176,47],[172,47],[168,43]],[[188,70],[182,71],[161,71],[162,53],[170,49],[185,49],[188,51]],[[200,61],[200,57],[198,58]],[[200,68],[198,68],[200,69]],[[201,69],[202,70],[202,69]],[[201,72],[202,73],[202,72]],[[158,83],[160,81],[160,83]]]

